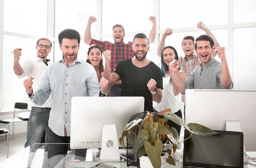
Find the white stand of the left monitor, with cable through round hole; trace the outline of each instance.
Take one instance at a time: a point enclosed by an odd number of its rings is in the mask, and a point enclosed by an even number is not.
[[[119,153],[116,124],[102,125],[101,163],[120,162],[120,156],[109,145]]]

